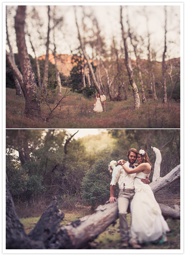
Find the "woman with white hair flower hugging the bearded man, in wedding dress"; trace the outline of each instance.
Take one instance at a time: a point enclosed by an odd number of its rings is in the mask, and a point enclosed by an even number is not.
[[[167,241],[166,232],[170,231],[168,224],[162,215],[151,187],[141,182],[141,179],[149,178],[152,164],[143,149],[139,150],[137,160],[138,165],[132,170],[129,170],[124,165],[125,160],[118,161],[127,174],[136,173],[134,181],[135,194],[131,201],[130,232],[132,237],[138,240],[139,244],[145,242],[163,243]]]

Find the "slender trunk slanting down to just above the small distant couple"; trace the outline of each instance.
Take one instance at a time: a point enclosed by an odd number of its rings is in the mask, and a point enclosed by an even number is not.
[[[77,30],[78,30],[78,38],[79,38],[79,41],[80,41],[80,47],[81,47],[81,50],[83,51],[83,55],[85,57],[85,59],[87,60],[87,64],[88,64],[88,67],[89,67],[89,70],[90,70],[90,74],[91,74],[91,77],[92,77],[92,80],[93,80],[93,83],[94,83],[94,86],[96,88],[96,91],[98,93],[100,93],[100,88],[99,88],[99,85],[96,81],[96,77],[95,77],[95,74],[94,74],[94,71],[93,71],[93,67],[90,63],[90,59],[88,58],[88,55],[85,51],[85,47],[83,45],[83,42],[82,42],[82,39],[81,39],[81,36],[80,36],[80,31],[79,31],[79,26],[78,26],[78,23],[77,23],[77,17],[76,17],[76,7],[74,6],[74,10],[75,10],[75,22],[76,22],[76,26],[77,26]]]

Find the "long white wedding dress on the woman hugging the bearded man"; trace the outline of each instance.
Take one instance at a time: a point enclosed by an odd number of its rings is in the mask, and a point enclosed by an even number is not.
[[[141,178],[149,175],[136,173],[135,195],[131,201],[131,236],[140,244],[155,241],[170,231],[151,187],[141,182]]]

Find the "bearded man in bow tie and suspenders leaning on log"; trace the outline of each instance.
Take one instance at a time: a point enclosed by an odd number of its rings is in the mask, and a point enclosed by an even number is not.
[[[129,149],[127,153],[128,161],[125,163],[126,167],[129,169],[135,168],[134,163],[136,162],[138,156],[137,149]],[[119,164],[119,163],[118,163]],[[141,249],[141,246],[137,243],[136,238],[131,236],[130,231],[128,231],[127,223],[127,209],[130,206],[132,198],[135,194],[134,192],[134,180],[136,173],[127,174],[123,169],[122,165],[117,165],[115,172],[115,177],[112,176],[111,186],[110,186],[110,198],[109,202],[114,203],[116,197],[114,197],[115,185],[118,182],[119,185],[119,196],[118,196],[118,210],[119,210],[119,224],[120,224],[120,235],[122,241],[122,247],[127,247],[129,244],[133,249]],[[145,184],[149,184],[150,180],[141,179]]]

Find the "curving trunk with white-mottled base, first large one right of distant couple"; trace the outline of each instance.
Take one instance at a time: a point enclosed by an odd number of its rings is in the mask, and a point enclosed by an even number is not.
[[[126,41],[127,36],[125,34],[124,27],[123,27],[123,21],[122,21],[122,6],[120,6],[120,23],[121,23],[121,32],[122,32],[122,37],[123,37],[123,43],[124,43],[124,47],[125,47],[125,66],[126,66],[126,69],[128,72],[129,81],[132,86],[132,91],[133,91],[133,95],[134,95],[134,109],[138,109],[138,108],[140,108],[140,99],[139,99],[138,88],[134,81],[131,63],[129,63],[128,46],[127,46],[127,41]]]

